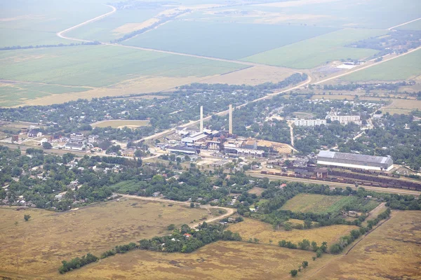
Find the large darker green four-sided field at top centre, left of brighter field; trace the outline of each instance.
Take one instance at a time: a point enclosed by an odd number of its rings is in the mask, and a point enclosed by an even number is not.
[[[240,59],[335,30],[330,27],[173,21],[131,38],[124,44]]]

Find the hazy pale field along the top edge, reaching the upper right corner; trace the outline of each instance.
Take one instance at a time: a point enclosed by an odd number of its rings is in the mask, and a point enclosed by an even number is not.
[[[269,1],[272,2],[272,1]],[[196,11],[184,20],[387,29],[420,17],[420,2],[368,0],[274,1]],[[379,8],[381,7],[381,8]]]

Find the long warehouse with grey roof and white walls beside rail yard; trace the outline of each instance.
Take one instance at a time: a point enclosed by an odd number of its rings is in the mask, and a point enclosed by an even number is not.
[[[393,160],[390,157],[377,157],[374,155],[320,151],[319,155],[317,155],[317,164],[370,170],[390,170],[393,167]]]

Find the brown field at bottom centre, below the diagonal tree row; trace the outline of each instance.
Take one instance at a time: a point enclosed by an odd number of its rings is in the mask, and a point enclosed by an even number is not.
[[[188,253],[133,251],[95,262],[57,279],[290,279],[289,272],[309,262],[302,276],[336,258],[323,255],[312,261],[314,252],[279,246],[218,241]]]

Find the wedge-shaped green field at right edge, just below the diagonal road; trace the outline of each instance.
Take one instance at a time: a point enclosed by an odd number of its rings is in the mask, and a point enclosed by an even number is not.
[[[411,52],[379,65],[364,69],[348,76],[344,80],[407,80],[421,75],[421,50]]]

